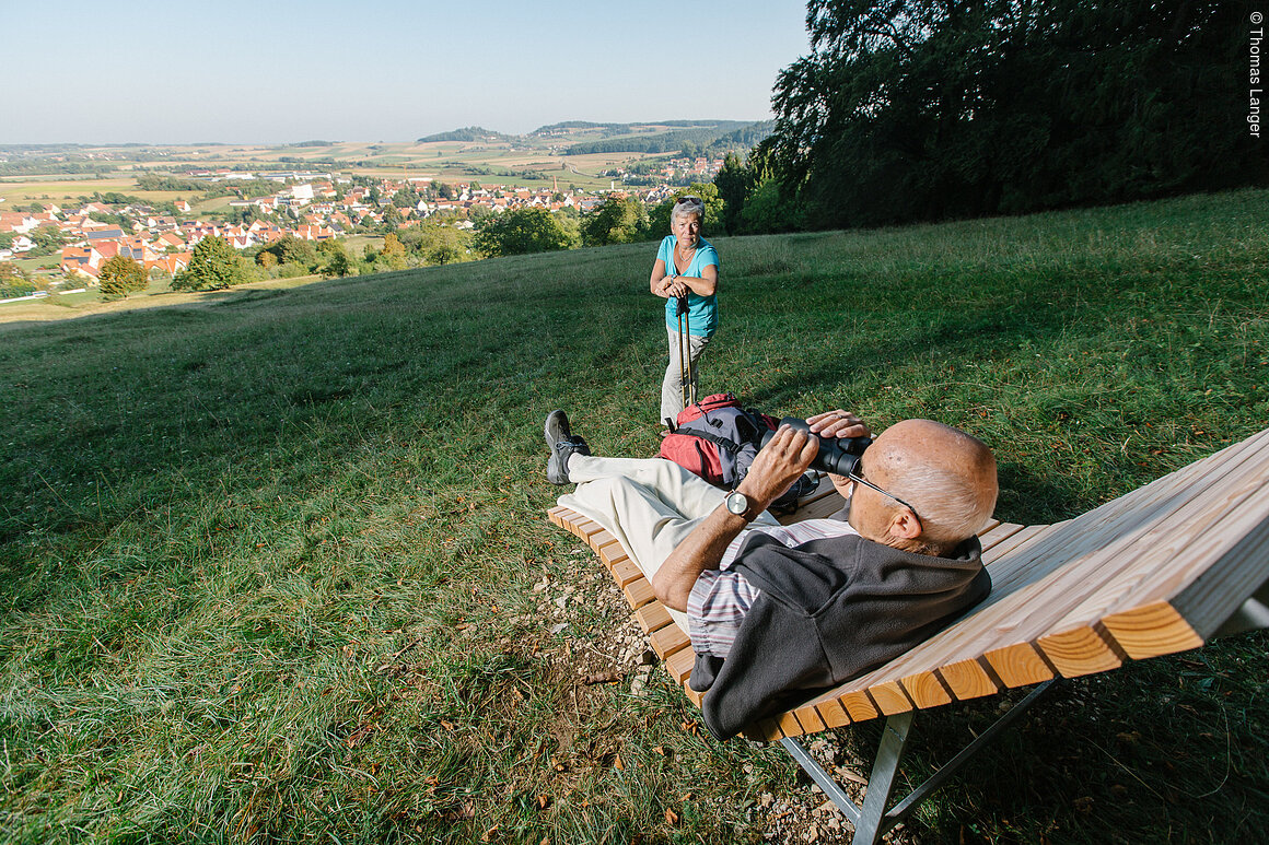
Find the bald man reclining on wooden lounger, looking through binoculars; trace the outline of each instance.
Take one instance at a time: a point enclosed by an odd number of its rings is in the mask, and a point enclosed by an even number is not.
[[[807,420],[819,438],[869,436],[846,411]],[[692,688],[725,738],[912,648],[991,590],[975,533],[996,504],[996,461],[930,420],[886,429],[827,519],[780,525],[768,505],[819,439],[780,426],[728,495],[661,458],[602,458],[563,411],[546,421],[560,504],[615,537],[688,632]],[[736,494],[740,494],[739,496]]]

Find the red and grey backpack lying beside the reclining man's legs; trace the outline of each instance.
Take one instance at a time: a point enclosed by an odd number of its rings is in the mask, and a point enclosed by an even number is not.
[[[679,412],[657,453],[712,485],[732,488],[749,472],[763,434],[779,420],[740,407],[731,393],[714,393]]]

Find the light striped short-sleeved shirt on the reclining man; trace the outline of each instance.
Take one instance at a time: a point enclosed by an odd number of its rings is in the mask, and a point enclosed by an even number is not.
[[[717,570],[706,570],[697,576],[688,595],[688,637],[697,653],[726,657],[736,639],[740,623],[761,593],[740,572],[731,572],[732,561],[751,532],[761,532],[789,548],[813,539],[855,534],[855,529],[843,519],[807,519],[792,525],[754,525],[744,530],[723,552]]]

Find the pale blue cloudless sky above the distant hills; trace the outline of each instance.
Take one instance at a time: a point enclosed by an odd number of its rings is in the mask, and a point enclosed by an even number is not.
[[[761,121],[805,0],[0,0],[0,143]]]

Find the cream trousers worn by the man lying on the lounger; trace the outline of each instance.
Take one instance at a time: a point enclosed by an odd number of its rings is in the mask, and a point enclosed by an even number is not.
[[[648,581],[727,492],[662,458],[600,458],[574,454],[569,478],[577,488],[560,504],[589,516],[617,538]],[[769,513],[754,524],[778,525]],[[684,632],[688,617],[667,608]]]

